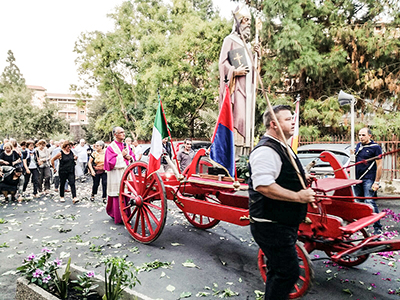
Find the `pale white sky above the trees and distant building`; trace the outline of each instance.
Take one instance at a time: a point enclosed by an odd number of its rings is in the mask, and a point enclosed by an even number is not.
[[[229,18],[237,3],[213,0]],[[7,0],[0,1],[0,73],[7,52],[27,85],[42,86],[47,93],[69,93],[78,84],[75,42],[83,32],[113,30],[107,14],[123,0]]]

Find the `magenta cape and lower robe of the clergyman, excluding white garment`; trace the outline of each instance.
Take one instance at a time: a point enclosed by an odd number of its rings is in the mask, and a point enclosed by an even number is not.
[[[117,144],[118,148],[122,151],[125,147],[123,143],[119,143],[115,141]],[[132,152],[132,149],[129,148],[129,155],[135,159],[135,154]],[[126,148],[125,148],[126,149]],[[115,172],[113,171],[115,164],[117,162],[117,153],[114,152],[111,146],[108,146],[106,149],[105,157],[104,157],[104,170],[107,172]],[[126,165],[129,165],[129,161],[125,159]],[[110,174],[111,175],[111,174]],[[121,218],[121,212],[119,209],[119,197],[118,196],[108,196],[107,199],[107,206],[106,206],[106,212],[107,214],[114,218],[114,223],[115,224],[120,224],[122,223],[122,218]]]

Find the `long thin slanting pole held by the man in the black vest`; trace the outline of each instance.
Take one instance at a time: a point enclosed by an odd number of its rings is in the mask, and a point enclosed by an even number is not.
[[[252,65],[254,66],[253,55],[251,54],[249,48],[246,46],[245,39],[244,39],[244,37],[243,37],[242,31],[240,30],[239,21],[238,21],[238,19],[236,18],[236,15],[235,15],[235,13],[234,13],[233,11],[232,11],[232,15],[233,15],[233,18],[234,18],[234,20],[235,20],[235,22],[236,22],[236,30],[237,30],[238,34],[240,35],[240,38],[242,39],[243,45],[245,46],[244,48],[246,49],[247,55],[249,56]],[[279,134],[280,134],[282,140],[283,140],[283,141],[286,141],[286,138],[285,138],[285,135],[284,135],[284,133],[283,133],[282,127],[281,127],[281,125],[280,125],[279,122],[278,122],[278,118],[276,117],[276,114],[275,114],[274,109],[273,109],[273,107],[272,107],[272,105],[271,105],[271,102],[269,101],[269,97],[268,97],[267,93],[265,92],[264,84],[263,84],[263,82],[262,82],[262,80],[261,80],[260,73],[258,72],[257,69],[255,69],[255,72],[257,73],[257,76],[256,76],[256,77],[258,78],[258,81],[260,82],[261,91],[262,91],[262,93],[263,93],[263,96],[264,96],[265,100],[267,100],[268,109],[269,109],[270,112],[271,112],[272,119],[274,120],[274,122],[276,123],[276,125],[277,125],[277,127],[278,127],[278,132],[279,132]],[[303,177],[301,176],[300,170],[299,170],[299,168],[298,168],[298,166],[297,166],[297,164],[296,164],[296,162],[295,162],[295,160],[294,160],[294,158],[293,158],[293,156],[292,156],[292,153],[291,153],[291,151],[290,151],[290,149],[289,149],[289,146],[288,146],[286,143],[284,143],[284,145],[285,145],[287,154],[288,154],[288,156],[289,156],[290,162],[291,162],[293,168],[295,169],[295,171],[296,171],[296,173],[297,173],[297,177],[299,178],[300,183],[301,183],[303,189],[306,189],[307,186],[306,186],[306,184],[305,184],[305,182],[304,182],[304,180],[303,180]]]

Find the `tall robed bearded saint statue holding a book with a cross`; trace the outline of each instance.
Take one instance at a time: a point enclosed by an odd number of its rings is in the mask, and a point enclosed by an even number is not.
[[[225,84],[228,84],[231,93],[234,138],[236,146],[236,156],[249,154],[251,142],[251,127],[253,124],[252,106],[255,103],[254,90],[254,68],[253,59],[248,53],[251,52],[250,25],[251,15],[246,5],[237,7],[234,11],[235,20],[232,32],[225,37],[219,57],[219,103],[223,102],[225,94]],[[236,22],[239,23],[237,26]],[[243,43],[238,32],[242,34],[246,43]],[[250,51],[246,50],[247,47]],[[256,45],[254,50],[259,52]]]

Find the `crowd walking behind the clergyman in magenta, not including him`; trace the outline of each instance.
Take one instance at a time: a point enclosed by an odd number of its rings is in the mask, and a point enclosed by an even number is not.
[[[142,149],[136,139],[127,138],[123,146],[131,149],[130,162],[141,158]],[[76,181],[92,177],[90,200],[95,201],[101,183],[101,196],[106,203],[106,147],[103,141],[89,145],[84,139],[77,143],[44,139],[18,143],[13,138],[4,139],[0,145],[0,192],[6,201],[19,203],[30,196],[55,193],[60,202],[65,202],[65,193],[71,192],[75,204],[79,202]]]

